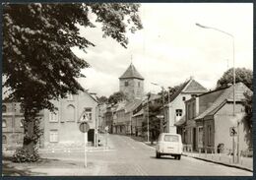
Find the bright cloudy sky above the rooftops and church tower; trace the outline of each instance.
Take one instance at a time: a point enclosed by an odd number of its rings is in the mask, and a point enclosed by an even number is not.
[[[145,92],[159,92],[160,86],[173,87],[190,77],[213,90],[233,67],[232,40],[235,67],[253,69],[252,3],[142,3],[139,14],[144,29],[127,33],[127,48],[102,38],[100,25],[81,28],[81,35],[96,44],[87,53],[72,49],[91,65],[82,70],[87,78],[79,80],[86,90],[107,97],[118,91],[118,78],[131,62],[145,78]]]

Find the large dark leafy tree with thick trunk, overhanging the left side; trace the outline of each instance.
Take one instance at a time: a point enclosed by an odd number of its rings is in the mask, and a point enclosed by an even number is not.
[[[90,14],[101,23],[103,36],[126,47],[127,30],[142,29],[140,5],[132,3],[30,3],[3,5],[4,86],[9,99],[24,108],[24,148],[34,152],[39,137],[36,114],[54,111],[50,100],[84,90],[77,82],[89,64],[75,56],[71,47],[87,49],[95,44],[80,35],[79,26],[95,28]],[[128,26],[129,25],[129,26]]]

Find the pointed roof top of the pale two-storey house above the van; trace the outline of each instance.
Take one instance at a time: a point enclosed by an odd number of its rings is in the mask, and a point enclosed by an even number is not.
[[[190,93],[197,93],[197,92],[206,92],[207,89],[205,89],[202,85],[200,85],[198,82],[196,82],[194,79],[190,79],[183,83],[178,90],[175,91],[173,95],[169,97],[169,102],[174,100],[181,92],[190,92]]]

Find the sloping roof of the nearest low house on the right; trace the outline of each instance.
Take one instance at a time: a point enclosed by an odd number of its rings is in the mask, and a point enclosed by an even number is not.
[[[241,101],[245,98],[244,92],[249,90],[243,83],[237,83],[234,85],[235,89],[235,101]],[[251,91],[251,90],[249,90]],[[206,93],[209,94],[209,93]],[[203,96],[204,94],[200,95]],[[200,98],[199,96],[199,98]],[[233,101],[233,86],[228,87],[223,90],[223,92],[216,98],[216,100],[209,106],[204,112],[202,112],[199,116],[195,119],[203,119],[205,116],[214,115],[227,100]]]

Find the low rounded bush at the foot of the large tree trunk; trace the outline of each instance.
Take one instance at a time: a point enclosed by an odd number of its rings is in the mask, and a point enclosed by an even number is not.
[[[13,162],[35,162],[39,159],[37,150],[30,153],[29,150],[19,148],[13,154]]]

